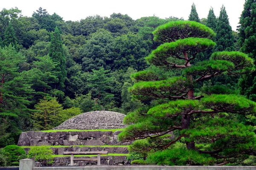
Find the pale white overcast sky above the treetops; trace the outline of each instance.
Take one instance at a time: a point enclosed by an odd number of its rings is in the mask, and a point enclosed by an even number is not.
[[[49,14],[55,12],[65,21],[79,21],[96,14],[109,17],[113,13],[128,14],[134,20],[153,15],[160,18],[183,17],[187,20],[193,2],[200,19],[207,18],[211,6],[218,17],[224,5],[230,26],[236,30],[245,0],[4,0],[0,8],[17,7],[22,10],[23,16],[31,17],[34,11],[42,7]]]

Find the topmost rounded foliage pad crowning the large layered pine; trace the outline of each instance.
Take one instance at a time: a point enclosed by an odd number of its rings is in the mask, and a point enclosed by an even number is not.
[[[179,34],[177,34],[179,30]],[[189,34],[187,34],[189,32]],[[195,21],[173,21],[157,27],[153,31],[154,40],[158,42],[172,42],[188,37],[212,39],[215,33],[212,29]]]

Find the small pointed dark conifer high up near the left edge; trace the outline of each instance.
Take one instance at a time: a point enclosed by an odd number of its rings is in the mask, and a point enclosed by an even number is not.
[[[15,36],[15,31],[12,27],[12,22],[9,22],[8,27],[6,28],[6,31],[4,33],[4,40],[3,40],[3,47],[4,46],[9,46],[11,44],[16,51],[18,51],[17,48],[17,38]]]

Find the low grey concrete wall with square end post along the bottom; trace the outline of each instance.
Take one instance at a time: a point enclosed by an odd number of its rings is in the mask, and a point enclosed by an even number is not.
[[[155,165],[101,165],[101,166],[67,166],[67,167],[34,167],[33,160],[21,159],[20,170],[256,170],[249,166],[155,166]]]

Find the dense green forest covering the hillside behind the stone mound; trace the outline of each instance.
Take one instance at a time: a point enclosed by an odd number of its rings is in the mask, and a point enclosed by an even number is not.
[[[201,23],[215,33],[212,31],[210,37],[205,37],[211,39],[212,42],[207,43],[212,44],[193,54],[189,64],[200,67],[203,63],[207,68],[208,61],[205,60],[212,59],[212,53],[219,51],[241,51],[245,54],[232,55],[244,57],[248,54],[255,59],[255,10],[253,0],[246,0],[239,22],[241,26],[236,32],[232,31],[224,6],[218,17],[210,8],[207,18],[200,19],[193,3],[189,21]],[[130,87],[148,80],[168,84],[171,83],[167,81],[168,77],[184,74],[193,74],[193,78],[200,79],[198,75],[201,74],[196,69],[170,70],[176,68],[176,64],[168,61],[170,65],[166,66],[160,59],[150,59],[163,43],[157,40],[153,31],[173,21],[184,19],[151,16],[133,20],[127,14],[113,13],[110,17],[95,15],[80,21],[64,21],[58,14],[50,15],[43,8],[36,10],[32,17],[22,16],[18,8],[3,8],[0,11],[0,147],[16,144],[21,131],[48,130],[84,112],[107,110],[142,116],[150,108],[169,102],[170,97],[147,98],[141,91],[136,91],[137,88]],[[178,59],[172,62],[178,62]],[[255,69],[249,69],[247,65],[247,70],[241,71],[246,74],[242,75],[236,72],[242,66],[237,68],[230,63],[215,63],[215,60],[210,60],[210,64],[222,65],[219,68],[222,71],[218,77],[216,74],[193,85],[195,96],[241,94],[256,101]],[[252,64],[253,60],[249,59],[249,62]],[[224,64],[235,73],[227,71]],[[224,115],[219,117],[222,119]],[[126,122],[133,122],[132,116]],[[227,117],[241,125],[254,126],[256,123],[252,115]],[[165,123],[161,122],[162,125]],[[182,135],[174,133],[175,136]]]

